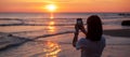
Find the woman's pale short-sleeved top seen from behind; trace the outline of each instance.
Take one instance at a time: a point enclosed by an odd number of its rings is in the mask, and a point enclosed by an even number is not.
[[[81,49],[81,57],[101,57],[104,47],[104,38],[96,42],[87,39],[80,39],[76,44],[76,48]]]

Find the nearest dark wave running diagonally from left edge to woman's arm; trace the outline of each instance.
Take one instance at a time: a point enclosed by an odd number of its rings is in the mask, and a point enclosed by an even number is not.
[[[53,34],[43,34],[43,35],[38,35],[35,38],[23,38],[23,37],[17,37],[17,35],[13,35],[11,33],[5,33],[5,32],[0,32],[0,39],[4,38],[4,41],[8,41],[6,43],[4,43],[2,46],[0,45],[0,51],[5,51],[15,46],[20,46],[26,42],[29,41],[35,41],[37,39],[41,39],[41,38],[49,38],[49,37],[53,37],[53,35],[60,35],[60,34],[65,34],[65,33],[73,33],[74,31],[65,31],[65,32],[58,32],[58,33],[53,33]],[[10,40],[8,40],[10,39]],[[3,42],[3,40],[0,41],[0,43]]]

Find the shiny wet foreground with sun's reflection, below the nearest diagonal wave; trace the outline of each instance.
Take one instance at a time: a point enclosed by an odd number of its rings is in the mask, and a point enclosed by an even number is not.
[[[80,34],[80,38],[83,37]],[[130,39],[109,37],[103,57],[123,57],[129,55]],[[73,33],[40,38],[0,52],[0,57],[80,57],[80,51],[72,45]]]

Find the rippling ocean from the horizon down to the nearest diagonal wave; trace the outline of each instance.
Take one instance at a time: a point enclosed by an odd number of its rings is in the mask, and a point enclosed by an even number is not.
[[[16,34],[23,32],[30,33],[32,31],[42,31],[42,34],[74,31],[76,18],[82,18],[86,25],[87,18],[91,15],[99,15],[102,18],[104,29],[129,28],[121,26],[121,20],[130,18],[118,14],[119,13],[1,13],[0,31]]]

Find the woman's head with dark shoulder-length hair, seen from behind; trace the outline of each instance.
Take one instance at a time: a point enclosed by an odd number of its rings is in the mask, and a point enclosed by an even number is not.
[[[92,15],[87,20],[88,33],[87,39],[100,41],[103,33],[102,22],[98,15]]]

